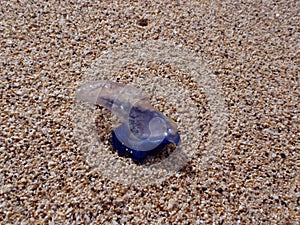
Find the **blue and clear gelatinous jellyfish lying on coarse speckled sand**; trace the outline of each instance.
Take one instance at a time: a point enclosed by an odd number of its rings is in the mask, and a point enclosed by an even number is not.
[[[142,163],[147,155],[159,154],[166,145],[180,144],[176,124],[157,111],[138,88],[100,80],[79,87],[76,98],[101,105],[120,119],[122,124],[111,135],[119,155]]]

